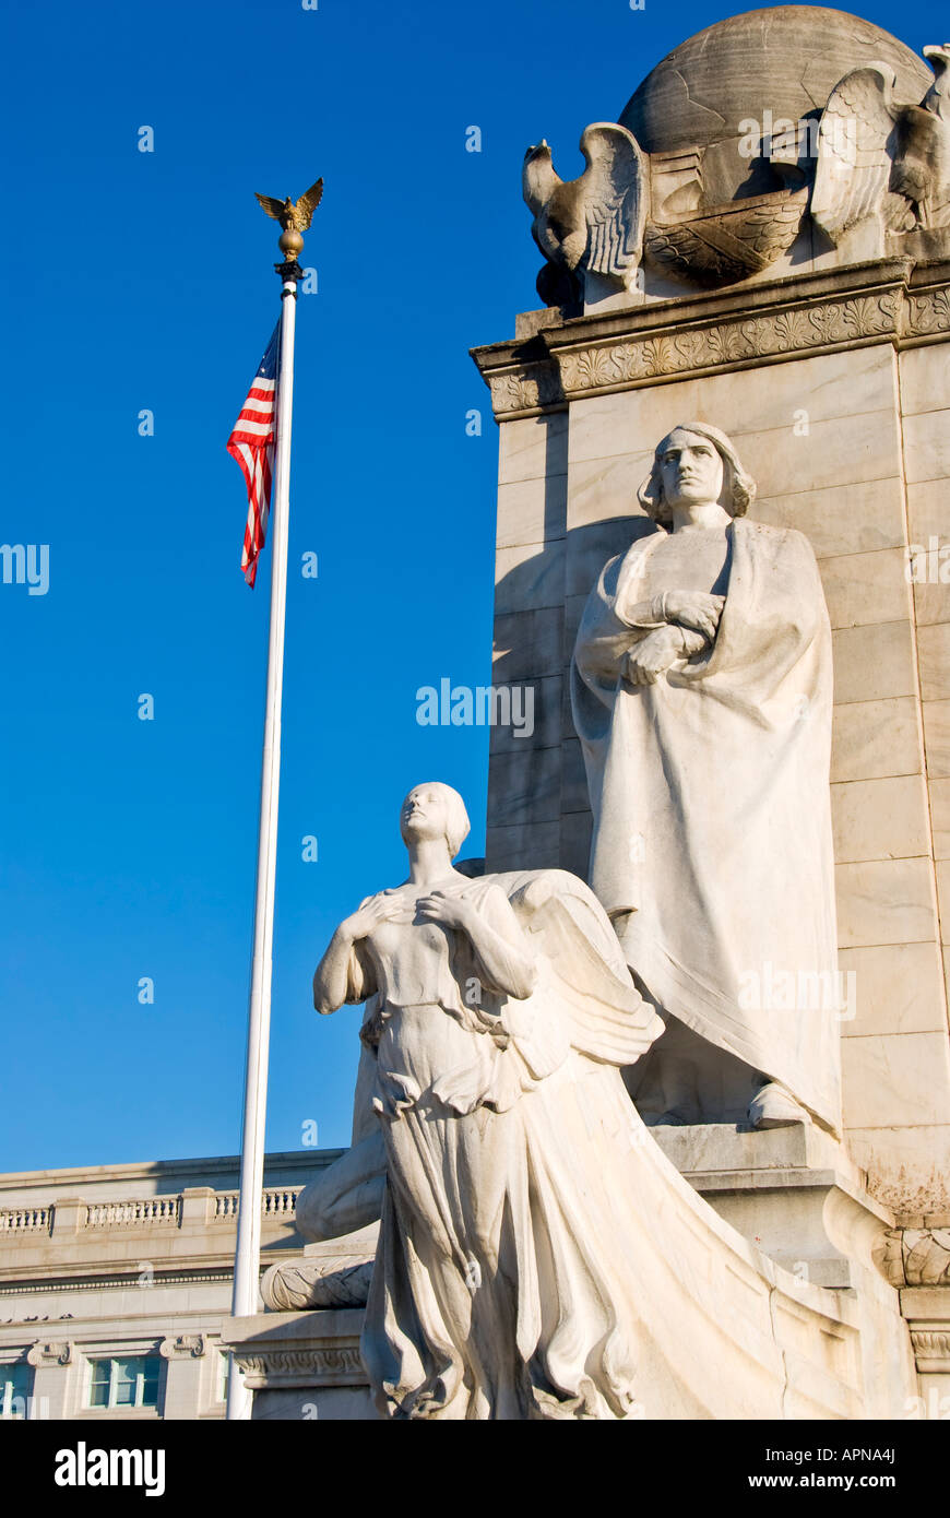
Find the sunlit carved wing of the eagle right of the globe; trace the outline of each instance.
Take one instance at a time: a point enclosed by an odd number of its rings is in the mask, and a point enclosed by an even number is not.
[[[888,206],[894,158],[894,71],[868,64],[845,74],[832,90],[818,128],[818,167],[812,191],[812,217],[833,243],[859,222]],[[888,219],[891,219],[888,216]]]

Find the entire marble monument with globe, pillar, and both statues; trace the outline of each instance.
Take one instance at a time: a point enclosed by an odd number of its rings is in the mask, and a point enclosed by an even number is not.
[[[950,1395],[947,55],[753,11],[528,149],[543,308],[473,358],[534,732],[486,874],[422,788],[317,972],[354,1145],[231,1325],[255,1416]]]

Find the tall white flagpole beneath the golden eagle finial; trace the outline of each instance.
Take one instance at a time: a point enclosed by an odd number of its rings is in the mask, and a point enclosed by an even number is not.
[[[285,232],[281,238],[284,247]],[[299,238],[300,247],[304,240]],[[302,272],[294,250],[278,273],[281,290],[281,364],[278,370],[273,509],[270,513],[270,641],[267,650],[267,703],[261,762],[261,818],[258,883],[253,908],[253,967],[247,1011],[247,1067],[244,1126],[241,1131],[241,1196],[234,1255],[234,1318],[258,1310],[261,1272],[261,1195],[264,1190],[264,1126],[267,1116],[267,1053],[270,1040],[270,981],[273,962],[273,888],[278,853],[278,800],[281,791],[281,695],[284,689],[284,615],[287,610],[287,539],[290,527],[290,430],[293,420],[293,339],[297,304],[296,276]],[[253,1394],[229,1356],[228,1418],[250,1418]]]

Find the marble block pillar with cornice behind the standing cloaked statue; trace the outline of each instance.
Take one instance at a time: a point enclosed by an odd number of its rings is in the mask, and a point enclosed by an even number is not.
[[[651,530],[634,489],[653,442],[681,416],[718,424],[759,484],[748,521],[804,533],[832,619],[848,1149],[886,1207],[945,1213],[950,583],[908,568],[914,543],[945,539],[950,264],[804,269],[612,316],[530,313],[475,352],[501,424],[499,542],[563,565],[496,615],[495,680],[537,698],[521,751],[492,735],[487,867],[586,871],[577,627],[604,562]]]

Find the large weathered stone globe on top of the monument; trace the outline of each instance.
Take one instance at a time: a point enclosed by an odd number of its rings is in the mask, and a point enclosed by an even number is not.
[[[876,62],[894,70],[898,102],[918,102],[932,83],[930,70],[909,47],[844,11],[801,5],[747,11],[675,47],[619,120],[648,153],[706,149],[703,202],[722,205],[775,188],[769,165],[739,150],[742,121],[768,131],[769,120],[816,117],[844,74]]]

